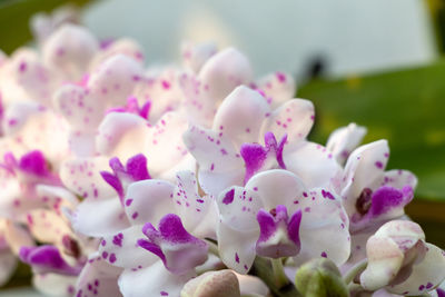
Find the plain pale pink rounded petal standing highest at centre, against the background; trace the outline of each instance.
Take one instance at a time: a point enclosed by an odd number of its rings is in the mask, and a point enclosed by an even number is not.
[[[218,102],[236,87],[251,81],[253,70],[247,58],[234,48],[219,51],[199,71],[201,85],[208,89],[208,98]]]

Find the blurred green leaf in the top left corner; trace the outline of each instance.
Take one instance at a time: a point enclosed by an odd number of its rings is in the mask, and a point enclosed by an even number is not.
[[[0,49],[7,53],[31,40],[32,14],[71,3],[80,7],[90,0],[0,0]]]

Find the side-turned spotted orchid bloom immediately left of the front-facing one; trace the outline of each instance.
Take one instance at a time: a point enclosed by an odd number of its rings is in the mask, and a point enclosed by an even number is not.
[[[131,226],[105,236],[99,248],[103,259],[125,268],[120,290],[125,296],[179,295],[207,259],[202,239],[215,238],[215,200],[198,194],[192,171],[181,171],[176,185],[157,179],[131,184],[123,205]],[[151,224],[157,221],[158,228]]]

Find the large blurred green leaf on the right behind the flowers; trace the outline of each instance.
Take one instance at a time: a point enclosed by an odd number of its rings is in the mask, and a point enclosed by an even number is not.
[[[365,142],[389,140],[388,168],[417,175],[416,196],[445,200],[445,61],[404,71],[314,81],[298,97],[317,109],[312,138],[325,142],[337,127],[368,128]]]

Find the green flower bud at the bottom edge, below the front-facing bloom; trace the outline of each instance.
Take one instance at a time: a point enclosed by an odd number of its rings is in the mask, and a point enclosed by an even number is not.
[[[349,293],[337,266],[329,259],[314,259],[303,265],[295,286],[305,297],[348,297]]]

